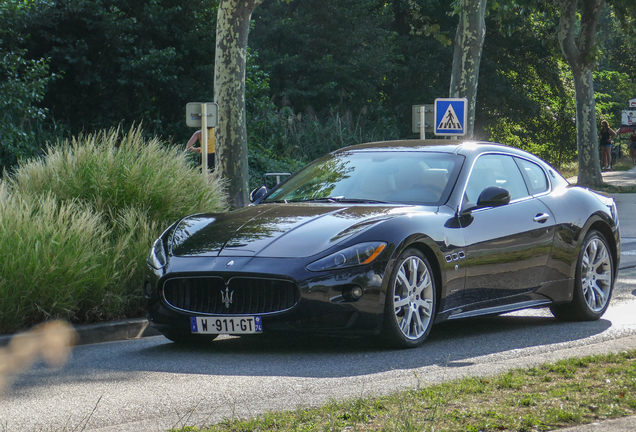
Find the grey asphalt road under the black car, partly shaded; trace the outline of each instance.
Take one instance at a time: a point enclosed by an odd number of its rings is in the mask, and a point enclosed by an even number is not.
[[[636,349],[636,268],[625,264],[636,256],[636,223],[634,232],[631,222],[626,226],[636,217],[636,195],[622,199],[623,235],[630,237],[611,306],[599,321],[562,323],[546,310],[522,311],[437,325],[424,346],[403,351],[315,337],[226,338],[199,349],[161,336],[83,345],[62,369],[36,365],[15,379],[0,400],[0,430],[163,432]]]

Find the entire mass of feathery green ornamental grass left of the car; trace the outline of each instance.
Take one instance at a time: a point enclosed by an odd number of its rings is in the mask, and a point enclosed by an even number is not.
[[[222,182],[140,128],[80,136],[22,163],[0,183],[0,333],[142,315],[152,241],[226,202]]]

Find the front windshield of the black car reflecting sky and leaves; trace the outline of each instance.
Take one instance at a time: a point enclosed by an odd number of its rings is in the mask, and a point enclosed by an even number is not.
[[[264,202],[349,202],[441,205],[464,157],[417,151],[330,154],[299,171]]]

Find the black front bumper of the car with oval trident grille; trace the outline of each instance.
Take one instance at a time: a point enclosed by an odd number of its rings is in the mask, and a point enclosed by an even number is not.
[[[383,286],[386,262],[330,272],[310,272],[305,269],[305,265],[304,260],[298,259],[171,257],[164,269],[148,267],[146,271],[144,285],[148,297],[148,318],[155,328],[164,333],[189,333],[192,316],[246,315],[260,316],[263,333],[267,334],[300,331],[366,335],[380,331],[386,292]],[[197,301],[188,298],[175,306],[177,301],[170,294],[170,300],[166,299],[167,286],[174,286],[176,280],[188,279],[213,279],[213,283],[201,284],[197,289],[199,293],[201,290],[208,290],[205,293],[206,298],[212,300],[206,302],[216,303],[212,306],[206,303],[201,308],[200,305],[204,302],[199,298]],[[254,289],[259,285],[276,286],[275,281],[281,281],[280,285],[293,286],[297,297],[291,307],[285,307],[284,310],[276,310],[275,307],[274,310],[260,308],[252,313],[254,309],[235,306],[245,302],[244,298],[235,296],[245,297],[249,292],[245,289],[233,289],[235,285],[231,281],[241,279],[254,281],[249,284]],[[362,297],[357,300],[347,295],[355,286],[362,288],[363,292]],[[185,294],[183,296],[186,297]],[[232,303],[226,307],[230,296]],[[197,306],[192,306],[194,304]]]

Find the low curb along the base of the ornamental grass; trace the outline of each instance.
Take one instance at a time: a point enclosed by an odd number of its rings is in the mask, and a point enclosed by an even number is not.
[[[78,340],[75,345],[115,342],[161,335],[159,331],[149,324],[146,318],[132,318],[73,326],[78,335]],[[7,346],[13,336],[14,335],[0,336],[0,347]]]

